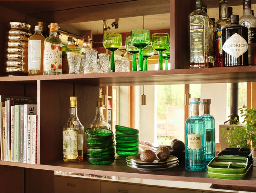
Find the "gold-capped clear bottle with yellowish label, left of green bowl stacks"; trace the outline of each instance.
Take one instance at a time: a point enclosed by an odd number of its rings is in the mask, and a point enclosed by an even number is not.
[[[84,127],[77,116],[77,98],[70,97],[68,121],[63,126],[63,160],[65,162],[83,161]]]

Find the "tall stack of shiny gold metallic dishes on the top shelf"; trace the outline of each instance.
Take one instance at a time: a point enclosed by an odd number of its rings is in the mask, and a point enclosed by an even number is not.
[[[28,39],[31,25],[24,22],[9,22],[6,72],[11,75],[27,75]]]

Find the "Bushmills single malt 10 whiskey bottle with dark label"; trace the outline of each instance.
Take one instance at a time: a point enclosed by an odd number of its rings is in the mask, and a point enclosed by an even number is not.
[[[202,0],[195,0],[189,18],[189,68],[207,68],[209,57],[209,17],[202,10]]]

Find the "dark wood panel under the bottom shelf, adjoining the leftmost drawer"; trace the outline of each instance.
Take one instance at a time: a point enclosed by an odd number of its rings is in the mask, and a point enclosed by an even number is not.
[[[25,169],[26,193],[54,193],[54,171]]]

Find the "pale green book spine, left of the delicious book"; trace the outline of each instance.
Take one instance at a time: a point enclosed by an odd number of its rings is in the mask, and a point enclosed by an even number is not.
[[[14,105],[14,162],[19,162],[19,105]]]

